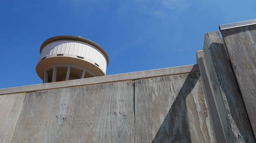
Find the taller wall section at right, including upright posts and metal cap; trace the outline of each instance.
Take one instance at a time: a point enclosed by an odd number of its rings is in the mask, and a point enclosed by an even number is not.
[[[206,33],[197,63],[218,142],[256,142],[256,20]],[[253,134],[254,133],[254,134]]]

